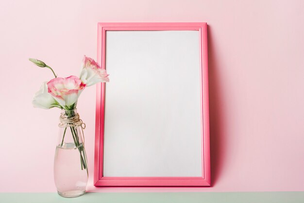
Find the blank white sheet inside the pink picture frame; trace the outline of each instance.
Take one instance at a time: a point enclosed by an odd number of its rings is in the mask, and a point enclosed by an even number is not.
[[[202,176],[199,31],[106,31],[105,177]]]

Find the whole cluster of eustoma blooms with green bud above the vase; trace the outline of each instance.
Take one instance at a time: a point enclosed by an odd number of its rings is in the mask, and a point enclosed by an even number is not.
[[[69,76],[58,78],[51,67],[43,61],[29,59],[38,67],[51,69],[54,79],[42,84],[33,99],[34,107],[50,109],[58,107],[72,110],[76,108],[78,98],[86,86],[95,85],[100,82],[109,82],[108,74],[92,58],[84,56],[80,78]]]

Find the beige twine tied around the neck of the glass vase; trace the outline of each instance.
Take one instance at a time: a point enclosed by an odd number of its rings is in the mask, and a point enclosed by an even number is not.
[[[82,119],[80,119],[80,116],[78,113],[72,114],[72,116],[61,114],[59,117],[60,123],[58,126],[60,128],[68,128],[73,127],[74,129],[77,129],[78,127],[81,127],[83,140],[84,140],[84,129],[85,129],[85,123]]]

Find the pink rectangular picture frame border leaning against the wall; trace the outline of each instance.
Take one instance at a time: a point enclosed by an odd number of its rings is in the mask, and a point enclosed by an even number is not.
[[[104,115],[105,84],[97,85],[96,131],[94,157],[94,186],[210,186],[209,99],[207,23],[98,23],[97,61],[105,69],[107,31],[199,31],[201,83],[201,149],[202,176],[200,177],[104,177]]]

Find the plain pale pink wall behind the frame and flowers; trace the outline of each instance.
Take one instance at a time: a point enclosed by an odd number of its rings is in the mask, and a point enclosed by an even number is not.
[[[32,107],[51,72],[96,58],[97,22],[207,22],[212,187],[89,191],[303,191],[303,0],[0,1],[0,192],[55,192],[59,109]],[[95,87],[80,97],[89,175]]]

